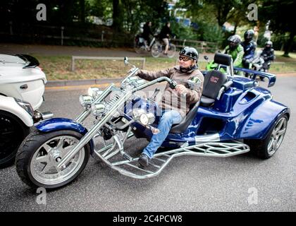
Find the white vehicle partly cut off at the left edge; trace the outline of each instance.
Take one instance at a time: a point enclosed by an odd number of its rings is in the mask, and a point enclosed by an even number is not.
[[[14,162],[18,146],[35,122],[53,116],[37,110],[47,83],[38,66],[29,55],[0,54],[0,168]]]

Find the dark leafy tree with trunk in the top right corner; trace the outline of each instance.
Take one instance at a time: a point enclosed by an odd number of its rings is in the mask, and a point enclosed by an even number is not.
[[[289,39],[284,46],[285,57],[289,56],[296,35],[295,19],[293,18],[295,8],[296,1],[293,0],[265,0],[259,8],[259,19],[264,22],[270,20],[270,28],[273,32],[289,33]]]

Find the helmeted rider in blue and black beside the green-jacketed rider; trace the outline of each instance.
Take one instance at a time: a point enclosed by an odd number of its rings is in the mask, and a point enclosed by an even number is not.
[[[247,30],[245,32],[245,41],[242,42],[242,47],[244,48],[244,57],[242,57],[242,66],[245,69],[249,69],[249,63],[254,59],[254,54],[256,51],[257,43],[253,41],[254,30]]]

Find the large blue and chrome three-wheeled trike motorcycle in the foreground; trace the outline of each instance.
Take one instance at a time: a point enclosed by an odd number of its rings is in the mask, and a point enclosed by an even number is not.
[[[121,85],[90,88],[88,95],[81,95],[83,111],[76,119],[39,122],[18,149],[20,179],[32,187],[58,188],[78,177],[90,155],[136,179],[158,175],[173,157],[181,155],[230,157],[252,150],[264,159],[273,156],[285,136],[290,109],[273,100],[257,81],[235,76],[230,56],[216,54],[214,62],[226,66],[229,73],[204,71],[201,100],[190,107],[180,124],[172,126],[162,143],[170,149],[156,153],[148,167],[140,167],[139,157],[125,149],[132,136],[149,141],[159,133],[156,95],[146,98],[138,91],[165,81],[171,88],[178,83],[167,77],[144,81],[135,76],[139,69],[133,66]],[[125,64],[129,64],[126,58]],[[270,73],[254,73],[268,78],[269,86],[276,81]],[[187,83],[188,88],[202,85]],[[87,129],[82,124],[89,117],[93,124]]]

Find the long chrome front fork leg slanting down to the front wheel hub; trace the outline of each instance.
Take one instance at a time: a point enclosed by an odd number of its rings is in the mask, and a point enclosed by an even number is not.
[[[92,129],[90,129],[90,131],[88,131],[85,136],[82,137],[79,143],[75,145],[75,147],[70,150],[70,152],[67,153],[60,162],[58,162],[57,167],[61,169],[61,167],[67,165],[68,162],[70,162],[70,160],[80,151],[80,149],[83,148],[83,146],[85,146],[88,142],[90,142],[97,131],[99,131],[99,129],[101,129],[101,127],[104,126],[104,124],[106,124],[106,122],[109,121],[111,117],[113,117],[113,114],[118,110],[118,107],[122,105],[126,100],[128,100],[131,96],[132,93],[128,91],[122,97],[120,97],[116,104],[113,105],[113,107],[110,109],[110,111],[100,121],[97,121]]]

